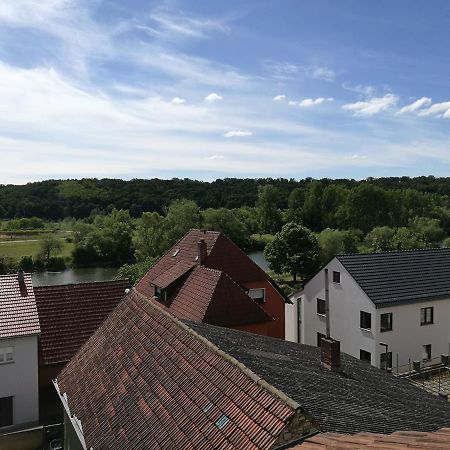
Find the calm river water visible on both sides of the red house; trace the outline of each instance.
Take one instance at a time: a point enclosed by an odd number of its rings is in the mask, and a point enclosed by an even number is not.
[[[262,251],[250,252],[248,256],[266,272],[269,265],[264,259]],[[67,269],[62,272],[33,273],[34,286],[48,286],[55,284],[87,283],[90,281],[113,280],[117,275],[117,267],[88,267],[83,269]]]

